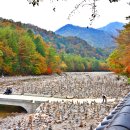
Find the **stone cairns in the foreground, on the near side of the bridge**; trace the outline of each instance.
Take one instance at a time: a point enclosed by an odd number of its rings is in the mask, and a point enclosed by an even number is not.
[[[1,120],[0,130],[89,130],[95,128],[115,105],[46,101],[34,114]]]

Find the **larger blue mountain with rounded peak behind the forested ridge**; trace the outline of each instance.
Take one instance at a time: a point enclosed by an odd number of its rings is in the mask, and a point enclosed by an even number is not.
[[[111,35],[103,30],[86,28],[67,24],[57,31],[56,34],[62,36],[77,36],[87,41],[91,46],[98,48],[113,48],[116,46]]]

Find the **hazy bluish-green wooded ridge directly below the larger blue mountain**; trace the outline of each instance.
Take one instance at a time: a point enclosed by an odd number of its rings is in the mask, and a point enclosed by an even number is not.
[[[107,51],[94,48],[88,42],[76,36],[64,37],[31,24],[23,25],[35,34],[40,34],[45,42],[54,46],[58,52],[77,54],[82,57],[95,57],[96,59],[106,58],[109,55]]]

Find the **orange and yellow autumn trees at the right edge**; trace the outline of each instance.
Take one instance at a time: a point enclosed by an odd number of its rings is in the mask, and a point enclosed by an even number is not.
[[[130,76],[130,23],[116,39],[118,48],[108,58],[110,69]]]

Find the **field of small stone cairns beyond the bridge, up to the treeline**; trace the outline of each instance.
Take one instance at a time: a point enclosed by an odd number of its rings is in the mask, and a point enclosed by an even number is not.
[[[129,92],[127,79],[112,73],[64,73],[61,76],[29,76],[0,78],[0,92],[7,87],[13,88],[13,94],[38,95],[58,98],[100,98],[123,97]]]

